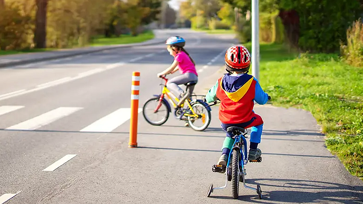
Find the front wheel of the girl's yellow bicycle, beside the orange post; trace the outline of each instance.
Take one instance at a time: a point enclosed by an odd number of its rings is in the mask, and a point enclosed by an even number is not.
[[[159,97],[153,97],[144,103],[143,115],[149,124],[160,126],[169,118],[169,110],[163,100],[160,101]]]

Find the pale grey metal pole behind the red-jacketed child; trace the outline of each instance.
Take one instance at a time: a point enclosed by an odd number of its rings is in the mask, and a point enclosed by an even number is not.
[[[259,59],[260,59],[260,43],[259,43],[259,19],[258,19],[258,0],[252,0],[252,75],[259,80]]]

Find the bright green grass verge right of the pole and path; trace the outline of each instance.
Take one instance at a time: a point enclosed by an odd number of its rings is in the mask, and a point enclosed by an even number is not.
[[[363,180],[363,68],[334,54],[298,56],[282,45],[261,44],[260,53],[259,80],[272,103],[310,111],[327,148]]]

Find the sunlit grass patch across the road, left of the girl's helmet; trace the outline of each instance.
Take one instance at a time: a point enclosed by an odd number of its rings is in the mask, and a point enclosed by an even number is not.
[[[92,40],[90,46],[104,46],[144,42],[154,38],[152,31],[146,31],[138,36],[122,35],[121,37],[98,37]]]

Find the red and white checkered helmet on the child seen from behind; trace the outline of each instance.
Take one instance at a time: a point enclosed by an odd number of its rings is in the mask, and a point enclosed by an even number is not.
[[[224,62],[229,72],[247,72],[251,66],[250,52],[244,46],[232,46],[226,51]]]

